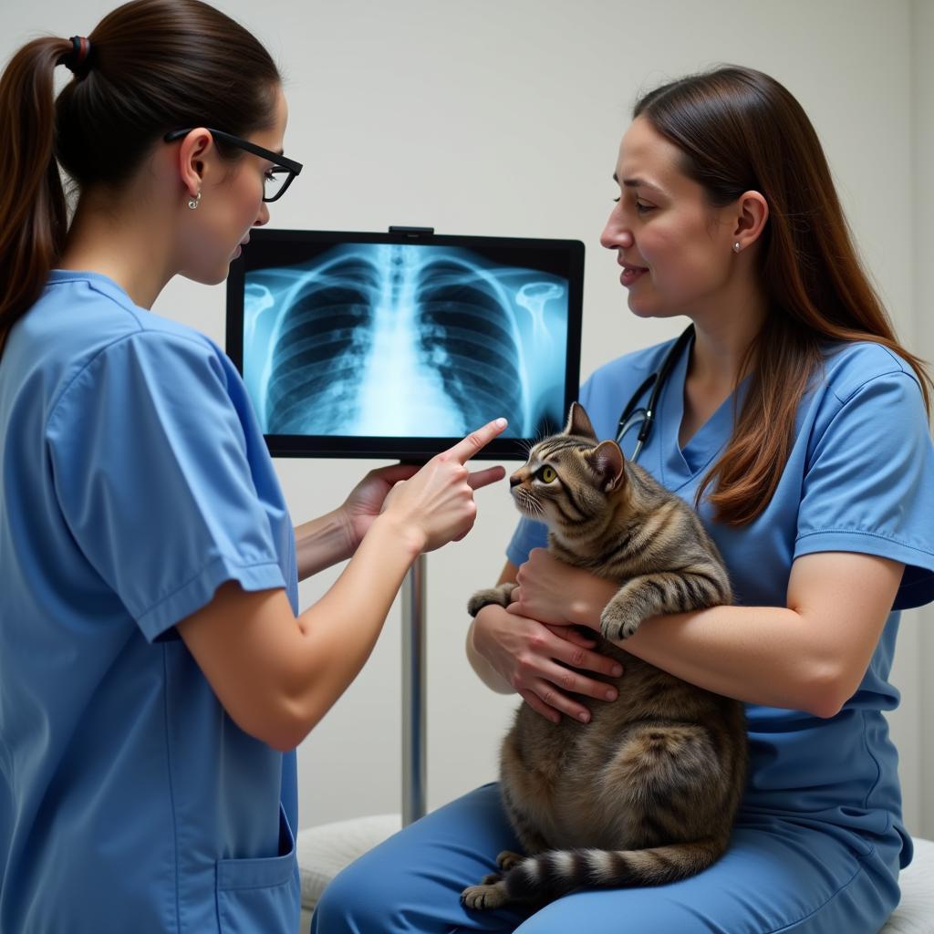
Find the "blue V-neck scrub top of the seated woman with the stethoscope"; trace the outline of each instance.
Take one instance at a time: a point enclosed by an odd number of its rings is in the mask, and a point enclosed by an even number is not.
[[[599,437],[615,437],[623,406],[670,346],[609,363],[582,387],[581,402]],[[639,463],[693,506],[729,440],[734,399],[682,449],[686,367],[683,354],[662,390]],[[625,453],[635,433],[623,439]],[[736,601],[746,606],[785,606],[791,565],[800,555],[854,551],[904,562],[894,612],[869,670],[838,715],[822,719],[747,704],[751,761],[743,817],[785,816],[843,835],[859,853],[876,846],[889,865],[907,866],[912,849],[901,822],[898,754],[883,712],[899,703],[887,680],[897,611],[934,600],[934,446],[912,369],[876,344],[826,347],[824,373],[800,403],[794,446],[766,510],[740,529],[716,524],[708,502],[699,511],[727,562]],[[545,527],[522,519],[507,555],[521,564],[531,548],[545,544]]]

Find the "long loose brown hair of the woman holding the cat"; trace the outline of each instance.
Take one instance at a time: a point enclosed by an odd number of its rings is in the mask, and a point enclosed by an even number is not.
[[[751,68],[722,67],[648,92],[632,116],[681,150],[683,171],[712,205],[744,191],[769,204],[759,272],[770,313],[741,366],[738,378],[751,371],[751,385],[729,445],[698,490],[700,502],[715,485],[717,521],[740,526],[771,501],[823,342],[874,341],[897,353],[917,375],[928,414],[934,384],[896,340],[856,257],[814,126],[785,87]]]

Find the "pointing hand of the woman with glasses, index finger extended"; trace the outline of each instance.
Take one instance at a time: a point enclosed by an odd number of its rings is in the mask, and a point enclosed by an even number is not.
[[[458,542],[473,528],[474,490],[502,480],[505,471],[497,466],[472,474],[464,464],[505,427],[504,418],[489,422],[389,490],[383,513],[396,518],[403,530],[416,537],[418,550],[432,551]]]

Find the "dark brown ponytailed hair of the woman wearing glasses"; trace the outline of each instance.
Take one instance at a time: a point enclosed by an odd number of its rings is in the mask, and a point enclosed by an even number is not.
[[[280,78],[269,53],[199,0],[134,0],[87,38],[83,57],[69,39],[35,39],[0,77],[0,349],[62,255],[60,166],[78,191],[117,190],[170,130],[243,136],[275,119]],[[56,100],[58,64],[75,75]],[[232,160],[237,152],[223,149]]]

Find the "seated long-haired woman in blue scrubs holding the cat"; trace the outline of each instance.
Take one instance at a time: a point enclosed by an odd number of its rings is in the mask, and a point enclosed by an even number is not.
[[[318,934],[875,934],[898,903],[912,843],[884,712],[899,702],[899,610],[934,598],[930,378],[896,343],[785,88],[725,68],[650,92],[633,117],[601,243],[633,313],[695,329],[639,462],[699,503],[737,605],[656,617],[624,647],[745,701],[751,763],[729,851],[664,887],[471,911],[460,891],[518,848],[488,785],[338,876]],[[590,377],[581,401],[601,438],[631,397],[645,404],[670,347]],[[607,661],[567,625],[599,630],[616,588],[544,545],[522,520],[501,577],[518,582],[514,602],[476,616],[468,654],[494,690],[586,721],[606,702],[588,673]]]

